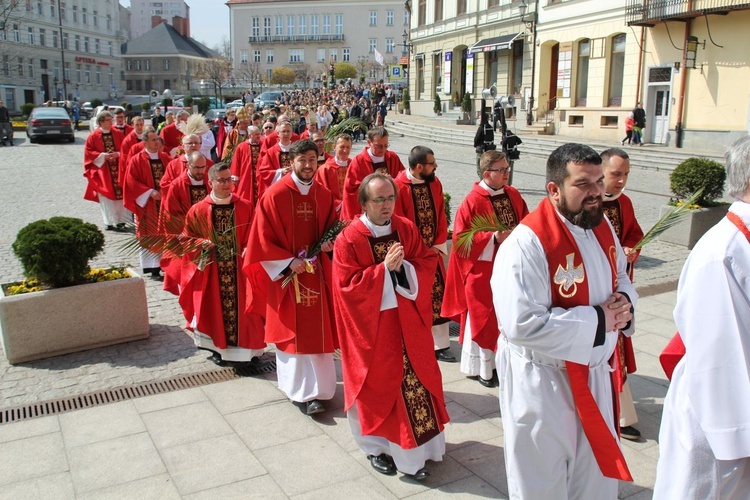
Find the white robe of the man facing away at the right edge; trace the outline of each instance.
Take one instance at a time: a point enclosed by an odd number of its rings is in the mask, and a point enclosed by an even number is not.
[[[750,227],[750,204],[729,210]],[[722,219],[680,276],[685,344],[664,401],[655,499],[750,498],[750,242]]]

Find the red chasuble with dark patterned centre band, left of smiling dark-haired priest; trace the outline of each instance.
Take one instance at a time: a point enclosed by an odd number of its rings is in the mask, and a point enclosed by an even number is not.
[[[218,252],[203,271],[186,256],[180,293],[185,319],[195,316],[196,328],[209,335],[216,347],[262,349],[263,321],[245,312],[247,280],[242,271],[253,207],[232,195],[229,205],[217,205],[210,196],[188,211],[185,234],[199,238],[218,238]],[[207,234],[208,233],[208,234]],[[234,252],[226,249],[235,248]],[[224,250],[221,250],[224,249]]]

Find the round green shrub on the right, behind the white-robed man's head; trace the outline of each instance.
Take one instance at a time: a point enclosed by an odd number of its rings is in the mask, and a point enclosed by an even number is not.
[[[711,207],[724,194],[726,177],[721,163],[708,158],[688,158],[674,169],[669,176],[669,184],[672,193],[680,199],[689,198],[703,188],[703,194],[696,203],[701,207]]]

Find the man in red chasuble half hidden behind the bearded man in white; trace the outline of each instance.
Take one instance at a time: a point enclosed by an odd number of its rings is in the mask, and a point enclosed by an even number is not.
[[[633,247],[643,238],[643,230],[635,218],[633,202],[623,193],[630,175],[630,157],[620,148],[611,148],[601,153],[602,171],[604,172],[604,215],[609,219],[620,240],[620,245],[628,259],[628,275],[633,281],[633,266],[640,255],[640,250]],[[637,440],[641,437],[638,429],[638,414],[633,404],[633,394],[627,376],[636,370],[635,352],[630,337],[620,334],[617,342],[617,355],[621,371],[617,388],[620,392],[620,436]]]

